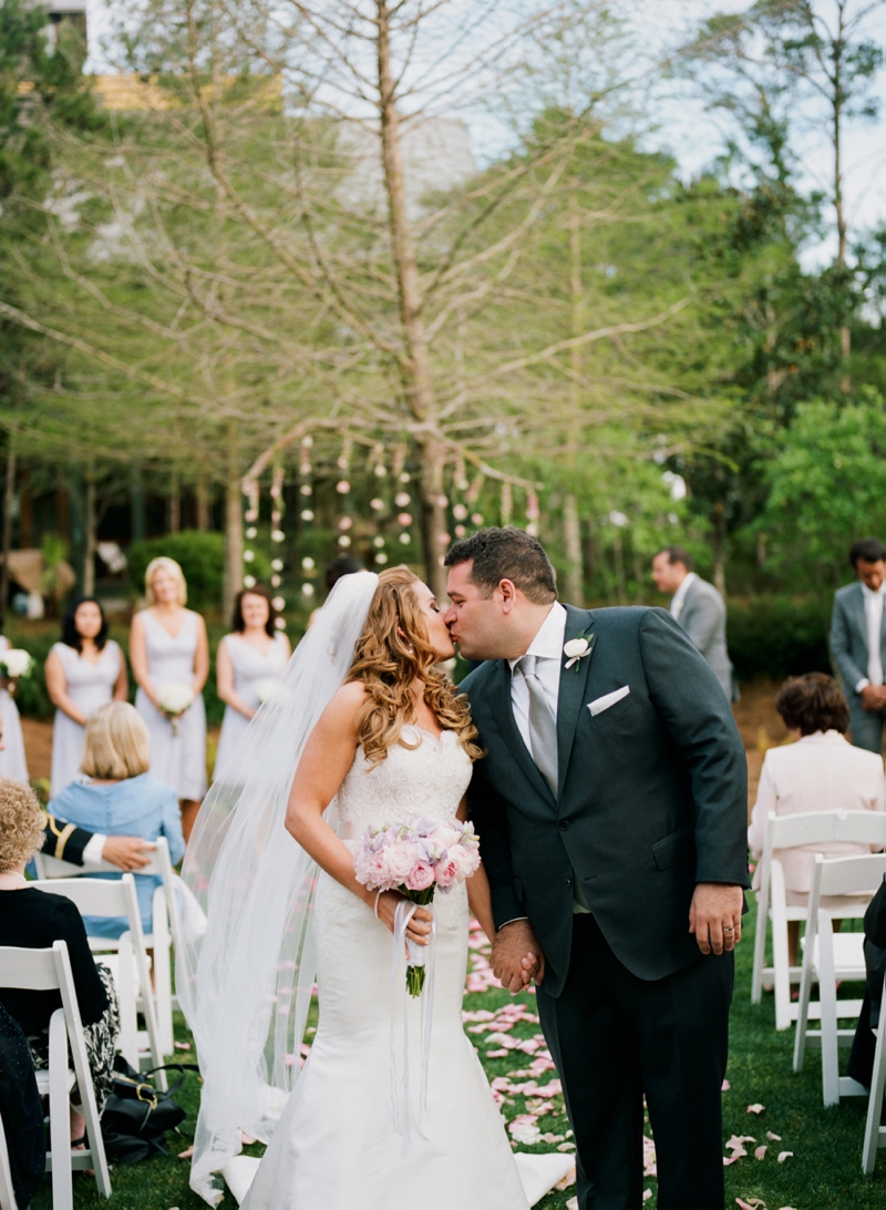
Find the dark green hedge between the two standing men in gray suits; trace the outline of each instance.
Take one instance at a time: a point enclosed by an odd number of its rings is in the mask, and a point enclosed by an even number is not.
[[[726,638],[740,680],[832,672],[828,652],[830,600],[758,597],[730,601]]]

